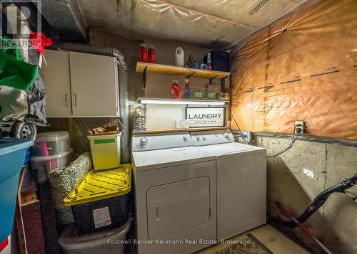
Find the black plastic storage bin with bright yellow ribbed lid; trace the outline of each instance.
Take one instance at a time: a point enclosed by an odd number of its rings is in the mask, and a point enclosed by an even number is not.
[[[64,199],[71,206],[79,234],[115,228],[128,221],[131,164],[91,171]]]

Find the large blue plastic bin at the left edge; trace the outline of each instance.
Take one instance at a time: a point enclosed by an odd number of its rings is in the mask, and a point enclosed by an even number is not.
[[[0,139],[0,243],[11,234],[19,176],[31,139]]]

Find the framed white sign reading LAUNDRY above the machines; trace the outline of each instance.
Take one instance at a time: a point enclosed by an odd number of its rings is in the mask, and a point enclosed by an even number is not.
[[[224,126],[224,107],[187,107],[189,127]]]

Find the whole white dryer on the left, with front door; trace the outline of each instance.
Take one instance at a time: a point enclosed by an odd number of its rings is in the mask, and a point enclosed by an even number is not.
[[[216,157],[193,147],[188,133],[134,136],[132,151],[139,254],[193,253],[211,245]]]

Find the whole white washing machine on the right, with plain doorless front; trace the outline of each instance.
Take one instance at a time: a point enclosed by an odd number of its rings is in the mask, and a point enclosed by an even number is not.
[[[217,239],[266,223],[266,149],[234,142],[229,129],[191,136],[217,159]]]

